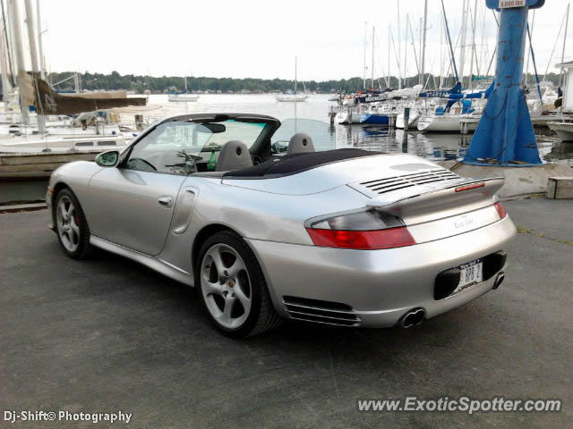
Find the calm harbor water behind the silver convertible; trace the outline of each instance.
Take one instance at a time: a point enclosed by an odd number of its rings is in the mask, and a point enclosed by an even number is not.
[[[172,103],[167,95],[151,95],[148,105],[157,107],[144,114],[147,122],[171,114],[199,113],[252,113],[275,116],[285,124],[288,120],[312,120],[324,132],[328,132],[329,148],[360,147],[386,153],[408,153],[433,161],[458,159],[465,155],[472,134],[433,134],[417,130],[389,129],[376,125],[329,125],[329,95],[310,95],[302,103],[281,103],[273,94],[201,94],[199,100],[191,103]],[[124,116],[124,115],[122,115]],[[133,118],[131,118],[133,120]],[[299,131],[304,131],[305,122]],[[310,123],[310,122],[306,122]],[[316,126],[316,125],[315,125]],[[285,130],[286,134],[289,130]],[[280,130],[278,131],[280,132]],[[285,136],[288,139],[288,136]],[[569,164],[573,166],[573,144],[560,143],[552,137],[539,135],[537,138],[540,156],[545,163]],[[319,145],[320,146],[320,145]],[[0,182],[0,203],[8,201],[35,201],[44,198],[47,181],[2,181]]]

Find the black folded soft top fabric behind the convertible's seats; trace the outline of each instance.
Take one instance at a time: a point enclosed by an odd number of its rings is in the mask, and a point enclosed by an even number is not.
[[[229,179],[271,179],[295,174],[297,172],[304,172],[324,164],[337,163],[338,161],[345,161],[346,159],[361,156],[375,155],[381,155],[381,152],[352,148],[291,154],[281,156],[280,159],[270,159],[262,164],[235,170],[234,172],[226,172],[223,174],[223,177]]]

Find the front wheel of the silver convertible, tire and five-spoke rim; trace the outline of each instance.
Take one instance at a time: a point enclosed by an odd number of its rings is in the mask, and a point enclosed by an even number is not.
[[[53,208],[57,240],[68,257],[83,259],[90,255],[90,227],[78,198],[72,190],[62,189]]]

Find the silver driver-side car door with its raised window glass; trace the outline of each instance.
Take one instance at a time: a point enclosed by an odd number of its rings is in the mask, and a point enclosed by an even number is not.
[[[187,139],[192,130],[180,129],[192,126],[159,125],[128,149],[121,164],[91,178],[87,205],[92,234],[146,255],[161,252],[177,194],[194,171],[189,156],[194,146]]]

